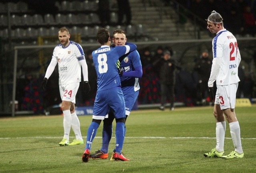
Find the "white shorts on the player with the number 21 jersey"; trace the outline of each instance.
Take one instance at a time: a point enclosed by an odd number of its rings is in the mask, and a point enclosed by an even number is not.
[[[235,108],[236,91],[238,83],[230,85],[217,85],[217,92],[214,104],[220,104],[220,109]]]

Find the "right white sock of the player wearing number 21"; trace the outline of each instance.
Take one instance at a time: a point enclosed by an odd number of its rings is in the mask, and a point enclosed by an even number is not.
[[[230,134],[235,146],[235,151],[242,154],[244,151],[242,149],[241,137],[240,137],[240,126],[238,121],[229,123]]]

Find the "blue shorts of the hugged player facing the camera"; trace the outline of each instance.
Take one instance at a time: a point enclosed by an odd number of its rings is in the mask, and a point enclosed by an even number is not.
[[[124,92],[124,102],[125,102],[125,114],[130,115],[132,107],[136,102],[139,95],[139,90],[135,92]]]

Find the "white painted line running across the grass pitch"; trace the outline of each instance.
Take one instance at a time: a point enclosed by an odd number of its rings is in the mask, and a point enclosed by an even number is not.
[[[36,136],[36,137],[14,137],[14,138],[0,138],[0,140],[7,140],[7,139],[33,139],[33,138],[60,138],[62,139],[63,136]],[[75,138],[70,136],[70,138]],[[83,136],[86,139],[86,136]],[[102,137],[95,137],[95,138],[102,138]],[[115,138],[115,137],[112,137]],[[142,136],[142,137],[125,137],[125,138],[143,138],[143,139],[216,139],[210,137],[150,137],[150,136]],[[232,139],[232,138],[225,138],[225,139]],[[256,140],[256,138],[241,138],[242,140]]]

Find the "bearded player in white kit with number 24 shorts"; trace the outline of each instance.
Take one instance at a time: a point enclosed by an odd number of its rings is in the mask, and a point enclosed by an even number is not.
[[[42,89],[45,90],[47,81],[58,63],[64,126],[64,137],[59,144],[60,146],[84,144],[80,131],[80,122],[75,112],[75,103],[76,93],[81,81],[81,66],[84,77],[84,90],[87,93],[90,91],[88,67],[82,47],[78,43],[69,40],[70,33],[68,29],[60,28],[58,37],[60,44],[54,48],[52,60],[42,81]],[[74,131],[76,139],[69,144],[70,128]]]

